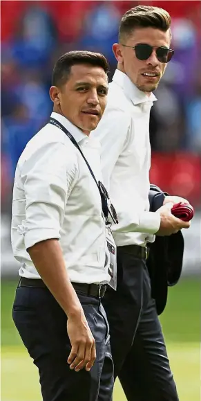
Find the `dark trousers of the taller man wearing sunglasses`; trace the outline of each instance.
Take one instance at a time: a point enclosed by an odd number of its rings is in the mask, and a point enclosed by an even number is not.
[[[117,247],[117,291],[103,299],[115,368],[128,401],[178,401],[145,260]]]

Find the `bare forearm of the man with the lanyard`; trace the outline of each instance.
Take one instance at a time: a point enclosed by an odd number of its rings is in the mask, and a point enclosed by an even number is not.
[[[79,314],[82,306],[70,283],[59,241],[52,239],[38,242],[28,249],[28,253],[39,275],[66,315],[69,317]]]

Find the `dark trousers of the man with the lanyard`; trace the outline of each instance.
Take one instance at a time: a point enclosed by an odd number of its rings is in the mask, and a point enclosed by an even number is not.
[[[18,287],[12,317],[39,369],[44,401],[111,401],[113,361],[106,314],[98,298],[77,295],[95,338],[97,359],[90,372],[70,370],[66,314],[47,288]]]

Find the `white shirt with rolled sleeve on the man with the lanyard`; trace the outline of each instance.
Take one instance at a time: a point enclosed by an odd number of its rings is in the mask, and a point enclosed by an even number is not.
[[[64,116],[51,116],[74,136],[96,179],[102,179],[97,140]],[[20,276],[39,278],[26,249],[50,238],[60,241],[71,281],[110,280],[106,225],[97,185],[68,136],[47,124],[26,145],[15,173],[11,240],[14,256],[21,262]]]

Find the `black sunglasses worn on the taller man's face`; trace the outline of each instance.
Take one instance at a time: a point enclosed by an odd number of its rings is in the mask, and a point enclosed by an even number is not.
[[[135,46],[127,46],[126,44],[122,44],[122,46],[133,48],[133,50],[135,50],[135,55],[138,60],[147,60],[153,53],[154,48],[156,48],[155,53],[157,55],[157,60],[159,60],[160,62],[169,62],[174,54],[174,51],[171,48],[167,48],[164,46],[151,46],[150,44],[146,43],[138,43],[135,44]]]

